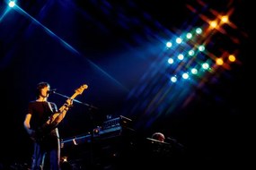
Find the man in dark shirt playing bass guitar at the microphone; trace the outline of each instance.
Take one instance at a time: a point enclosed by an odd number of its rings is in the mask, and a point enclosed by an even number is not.
[[[87,85],[75,90],[71,98],[57,109],[57,105],[49,102],[50,85],[40,82],[36,89],[36,100],[29,103],[24,119],[24,128],[34,141],[34,153],[31,170],[59,170],[60,169],[60,140],[57,129],[66,116],[67,110],[73,105],[73,99],[82,94]]]

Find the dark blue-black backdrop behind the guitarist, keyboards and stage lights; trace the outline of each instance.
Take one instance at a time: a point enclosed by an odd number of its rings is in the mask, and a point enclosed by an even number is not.
[[[124,115],[133,120],[142,138],[163,132],[179,140],[199,164],[249,166],[254,134],[252,4],[205,1],[206,10],[201,12],[199,2],[19,1],[23,12],[11,10],[5,15],[6,4],[1,2],[0,162],[4,166],[30,164],[31,140],[22,122],[37,83],[48,81],[64,96],[71,96],[83,84],[89,87],[76,98],[83,104],[75,103],[60,124],[63,139],[92,131],[107,115]],[[198,14],[191,13],[188,4]],[[198,89],[187,106],[173,102],[172,113],[150,122],[143,110],[128,112],[140,100],[127,99],[129,92],[160,52],[154,48],[160,46],[158,36],[186,30],[194,16],[207,16],[209,9],[226,13],[232,7],[231,21],[237,28],[230,31],[239,43],[217,39],[213,43],[239,51],[239,62],[219,73],[217,83]],[[49,100],[61,106],[66,98],[51,94]]]

